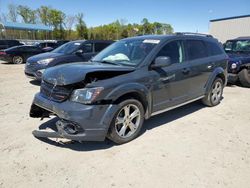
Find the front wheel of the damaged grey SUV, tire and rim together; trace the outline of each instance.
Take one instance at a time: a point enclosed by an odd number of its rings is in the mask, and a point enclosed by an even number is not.
[[[135,99],[127,99],[120,104],[109,128],[108,138],[117,144],[135,139],[144,122],[144,108]]]

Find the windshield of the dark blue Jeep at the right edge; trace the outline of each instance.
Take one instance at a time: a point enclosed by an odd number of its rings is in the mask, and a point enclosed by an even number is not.
[[[250,52],[250,40],[227,41],[225,51]]]

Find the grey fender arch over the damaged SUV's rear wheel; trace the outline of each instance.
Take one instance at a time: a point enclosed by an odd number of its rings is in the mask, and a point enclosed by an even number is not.
[[[214,71],[211,73],[206,85],[205,85],[205,91],[206,91],[206,94],[209,92],[214,80],[216,77],[223,77],[224,79],[224,85],[226,86],[227,84],[227,70],[224,70],[223,68],[221,67],[217,67],[216,69],[214,69]]]

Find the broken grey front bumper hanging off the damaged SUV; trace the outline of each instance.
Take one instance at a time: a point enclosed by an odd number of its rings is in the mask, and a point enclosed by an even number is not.
[[[71,101],[57,103],[35,95],[30,114],[34,116],[37,107],[59,117],[57,132],[33,131],[36,137],[67,138],[76,141],[103,141],[114,117],[117,105],[83,105]],[[39,114],[40,115],[40,114]]]

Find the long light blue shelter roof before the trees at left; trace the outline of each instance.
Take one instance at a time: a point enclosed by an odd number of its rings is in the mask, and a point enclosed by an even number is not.
[[[5,29],[52,31],[51,27],[44,24],[3,22],[0,23],[0,25],[2,25]]]

